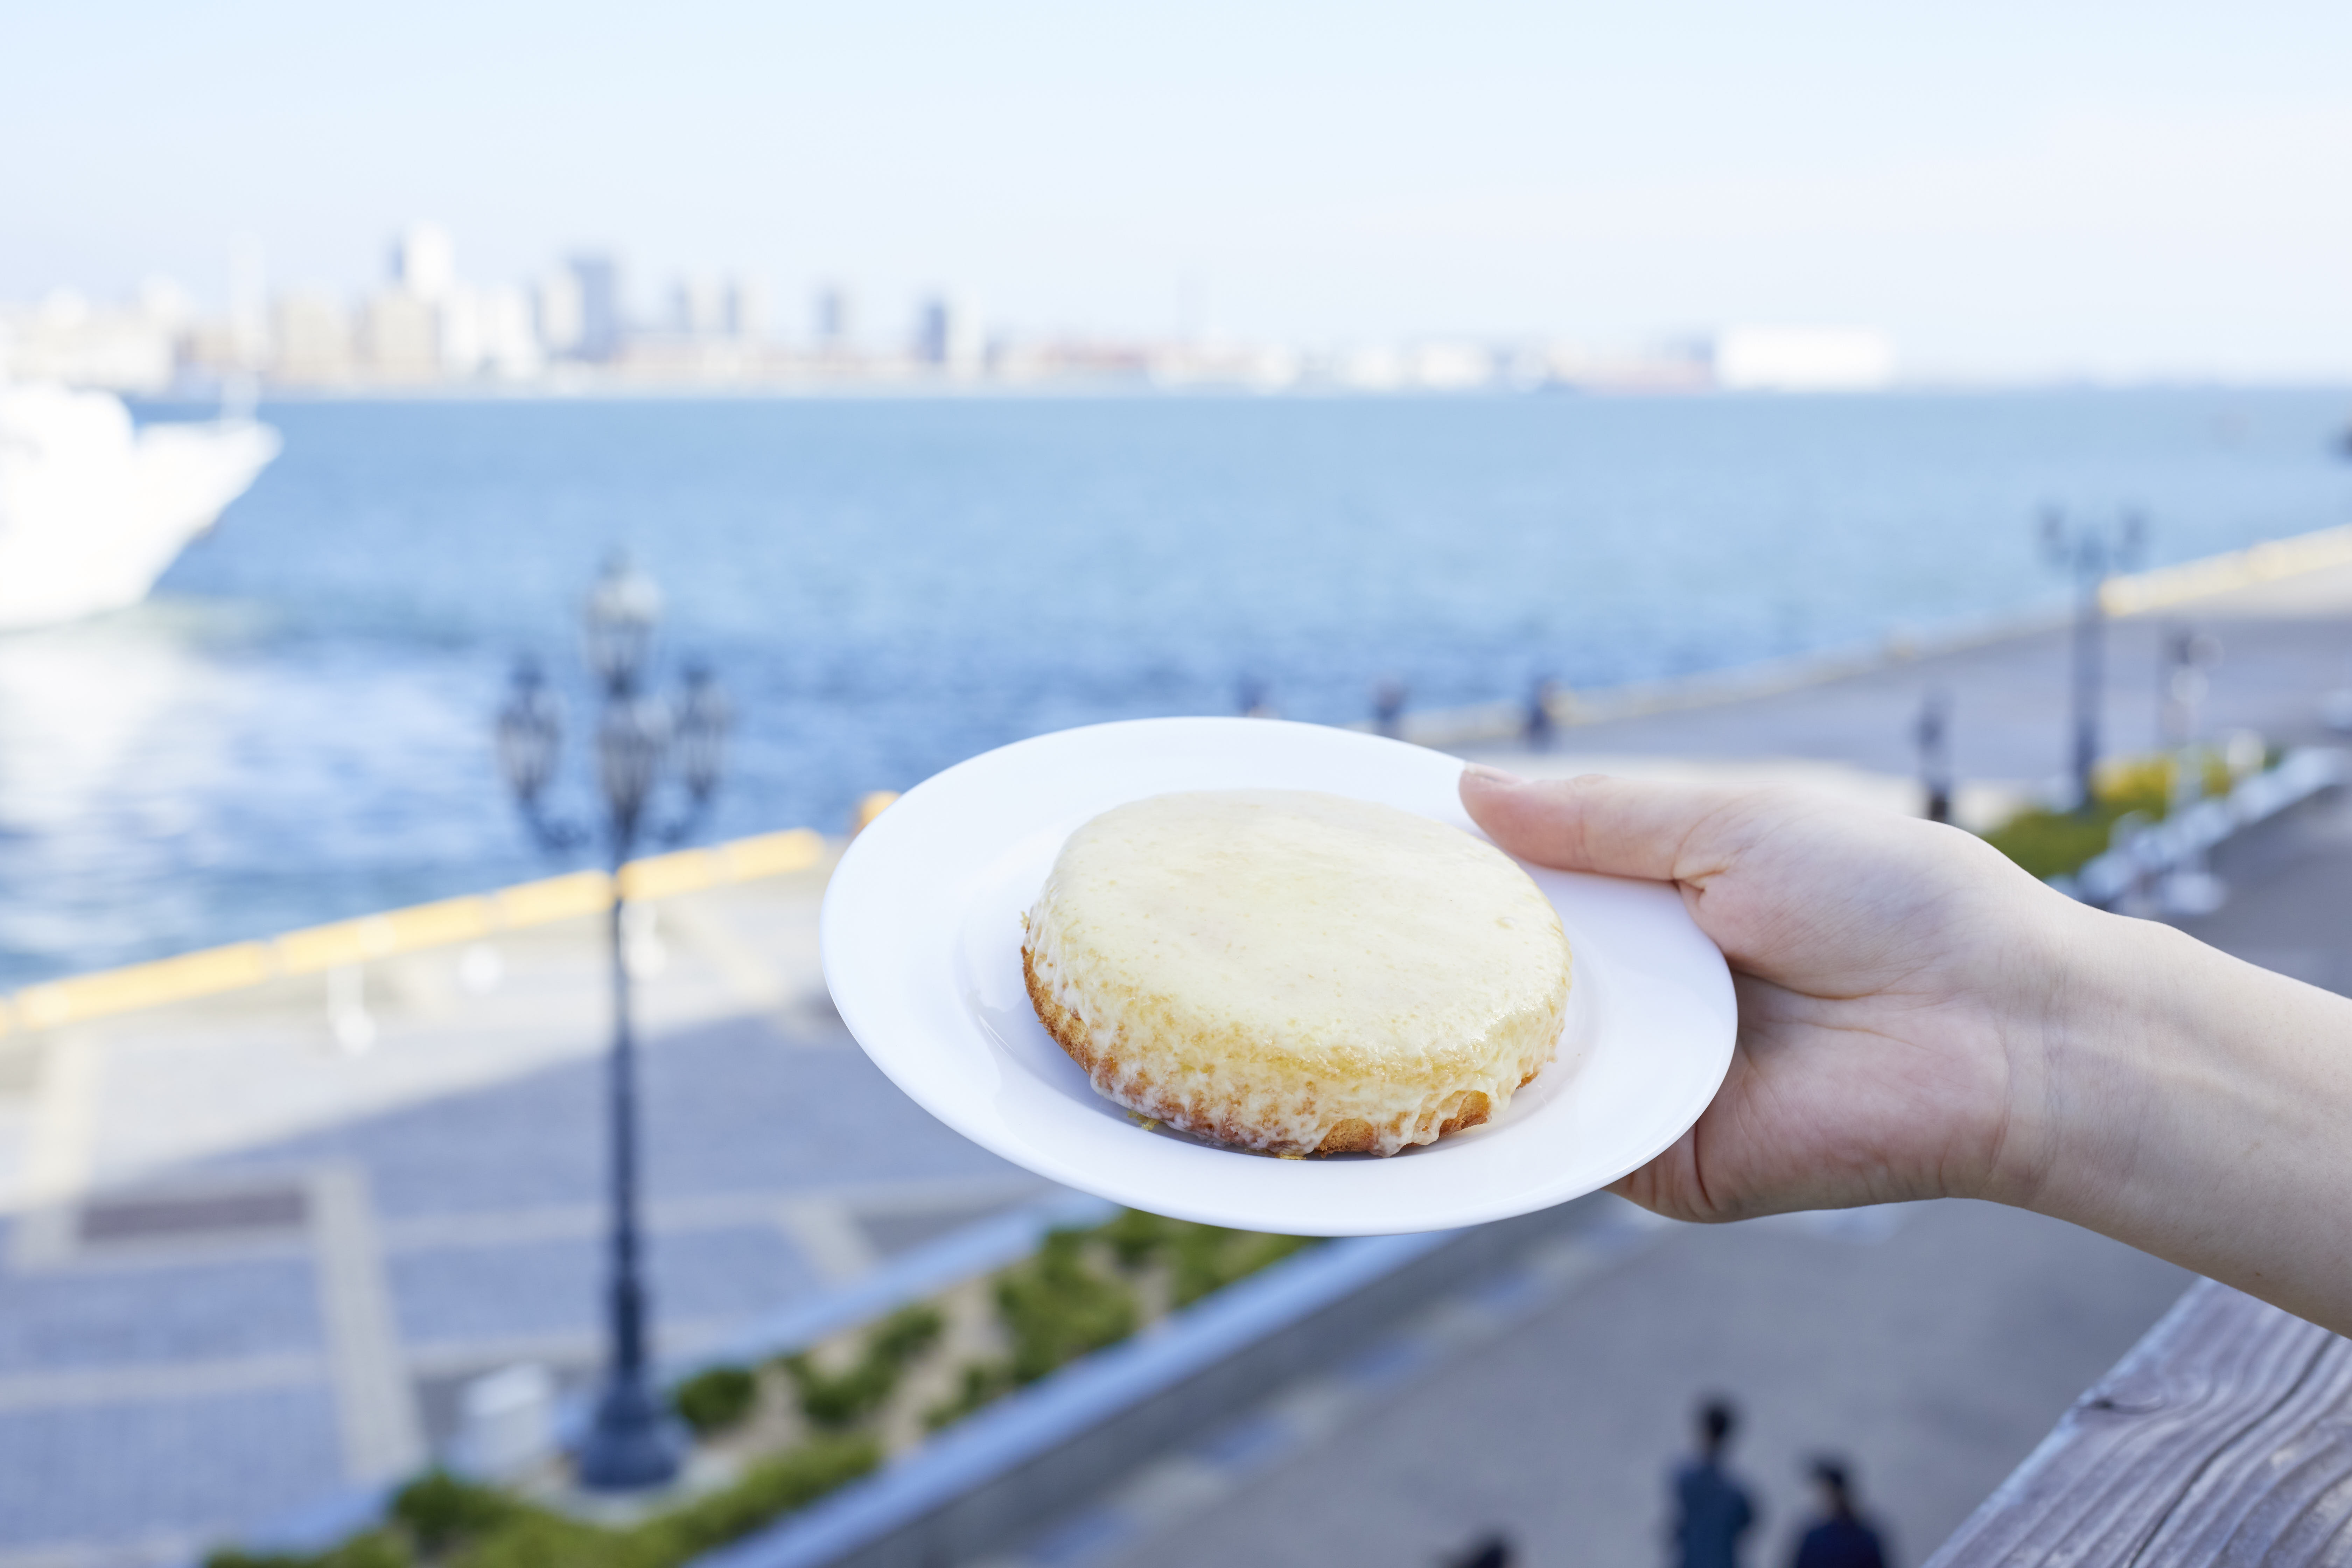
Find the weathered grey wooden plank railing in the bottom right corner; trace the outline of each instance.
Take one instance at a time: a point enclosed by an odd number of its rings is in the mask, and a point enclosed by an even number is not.
[[[1929,1568],[2352,1566],[2352,1340],[2201,1281]]]

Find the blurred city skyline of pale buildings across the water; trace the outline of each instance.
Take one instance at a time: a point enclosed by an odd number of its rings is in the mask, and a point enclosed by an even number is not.
[[[687,273],[659,310],[628,287],[614,252],[572,252],[527,282],[459,268],[440,223],[409,223],[383,275],[341,294],[270,284],[256,240],[230,252],[230,301],[205,310],[176,280],[151,275],[127,299],[49,289],[0,301],[0,383],[59,381],[122,393],[209,395],[235,388],[644,390],[644,388],[938,388],[1188,386],[1249,390],[1783,390],[1865,393],[1893,381],[1893,346],[1851,327],[1729,327],[1644,346],[1510,334],[1402,343],[1301,346],[1171,336],[990,329],[953,292],[910,320],[863,322],[856,294],[828,282],[783,327],[748,273]]]

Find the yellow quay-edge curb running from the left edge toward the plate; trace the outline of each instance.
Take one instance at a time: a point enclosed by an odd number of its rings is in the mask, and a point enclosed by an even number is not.
[[[826,856],[826,839],[809,827],[764,832],[715,849],[680,849],[668,856],[630,860],[621,867],[621,891],[628,898],[670,898],[729,882],[757,882],[800,872]],[[167,1001],[219,997],[282,976],[310,976],[367,959],[388,959],[423,947],[480,940],[494,931],[546,926],[579,914],[602,914],[612,907],[612,877],[572,872],[524,882],[496,893],[445,898],[407,910],[388,910],[332,926],[308,926],[259,943],[205,947],[176,959],[103,969],[71,980],[28,985],[0,1001],[0,1034],[52,1030]]]

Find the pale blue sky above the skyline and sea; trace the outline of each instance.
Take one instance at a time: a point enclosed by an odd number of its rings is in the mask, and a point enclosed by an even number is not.
[[[0,296],[612,244],[873,334],[1882,327],[1964,376],[2352,378],[2352,7],[33,5]]]

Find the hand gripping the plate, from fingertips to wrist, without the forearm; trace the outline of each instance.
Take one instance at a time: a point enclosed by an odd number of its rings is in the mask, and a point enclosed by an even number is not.
[[[2030,1201],[2072,903],[1957,827],[1797,790],[1472,766],[1461,795],[1524,860],[1675,882],[1731,961],[1722,1093],[1618,1192],[1677,1220]]]

